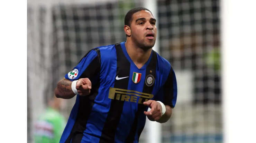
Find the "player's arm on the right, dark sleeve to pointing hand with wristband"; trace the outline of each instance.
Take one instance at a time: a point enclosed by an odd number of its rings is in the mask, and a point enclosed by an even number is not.
[[[172,67],[165,84],[157,96],[157,101],[148,100],[144,102],[144,105],[147,105],[150,108],[150,111],[144,111],[144,113],[150,121],[165,123],[171,118],[172,108],[175,107],[177,100],[177,81]]]

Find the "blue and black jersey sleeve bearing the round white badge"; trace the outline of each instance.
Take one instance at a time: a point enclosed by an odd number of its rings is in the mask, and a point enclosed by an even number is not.
[[[90,50],[77,64],[71,72],[65,75],[65,79],[74,81],[80,78],[89,78],[92,80],[100,73],[100,55],[99,49]]]

